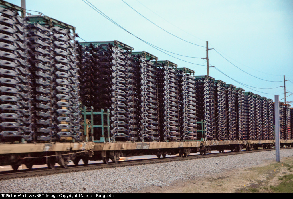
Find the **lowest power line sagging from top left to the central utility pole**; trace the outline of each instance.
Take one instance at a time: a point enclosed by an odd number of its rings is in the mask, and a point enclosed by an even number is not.
[[[123,28],[123,27],[122,27],[121,25],[119,25],[117,22],[115,22],[115,21],[112,20],[110,17],[108,17],[105,13],[103,13],[103,12],[100,11],[98,8],[96,8],[96,6],[94,6],[93,4],[91,4],[91,2],[89,2],[88,0],[82,0],[82,1],[83,1],[84,3],[86,3],[88,6],[90,6],[91,8],[93,8],[94,11],[98,12],[100,15],[102,15],[103,17],[105,17],[106,19],[108,19],[110,22],[114,23],[115,25],[117,25],[117,26],[120,27],[121,29],[125,30],[126,32],[128,32],[128,33],[131,34],[132,36],[136,37],[137,39],[141,40],[142,42],[146,43],[147,45],[149,45],[149,46],[155,48],[156,50],[159,50],[159,49],[158,49],[159,47],[157,47],[157,46],[155,46],[155,45],[153,45],[153,44],[151,44],[151,43],[149,43],[149,42],[147,42],[147,41],[144,41],[143,39],[141,39],[141,38],[139,38],[138,36],[136,36],[136,35],[132,34],[131,32],[129,32],[127,29]],[[89,5],[86,1],[87,1],[89,4],[91,4],[91,5]],[[161,48],[160,48],[160,49],[161,49]],[[168,53],[165,53],[165,52],[163,52],[163,51],[161,51],[161,50],[159,50],[159,51],[162,52],[162,53],[164,53],[164,54],[166,54],[166,55],[169,55]],[[172,56],[172,55],[169,55],[169,56],[174,57],[174,56]],[[183,62],[187,62],[187,63],[190,63],[190,64],[195,64],[195,63],[192,63],[192,62],[188,62],[188,61],[186,61],[186,60],[182,60],[182,59],[180,59],[180,58],[178,58],[178,57],[174,57],[174,58],[176,58],[176,59],[178,59],[178,60],[181,60],[181,61],[183,61]],[[195,65],[205,66],[205,65],[202,65],[202,64],[195,64]]]

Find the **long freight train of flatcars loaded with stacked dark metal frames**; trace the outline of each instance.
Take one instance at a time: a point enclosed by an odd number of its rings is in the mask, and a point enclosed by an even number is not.
[[[0,1],[0,165],[240,151],[274,145],[274,103],[119,41]],[[292,108],[279,104],[281,146]]]

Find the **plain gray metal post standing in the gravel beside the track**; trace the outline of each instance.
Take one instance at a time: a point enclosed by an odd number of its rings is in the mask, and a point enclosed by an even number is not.
[[[276,161],[280,162],[280,121],[279,121],[279,95],[275,95],[275,149]]]

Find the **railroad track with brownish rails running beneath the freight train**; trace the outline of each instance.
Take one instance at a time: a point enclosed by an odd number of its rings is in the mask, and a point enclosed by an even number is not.
[[[282,147],[280,149],[293,149],[293,147]],[[198,158],[212,158],[219,156],[231,156],[237,154],[244,153],[254,153],[261,151],[272,151],[272,149],[258,149],[251,151],[240,151],[240,152],[226,152],[226,153],[208,153],[207,155],[189,155],[187,157],[168,157],[168,158],[150,158],[143,160],[124,160],[118,163],[93,163],[89,165],[70,165],[67,168],[56,167],[54,170],[47,168],[38,168],[32,170],[20,170],[20,171],[5,171],[0,172],[0,180],[11,179],[11,178],[21,178],[21,177],[33,177],[40,175],[50,175],[57,173],[69,173],[69,172],[78,172],[78,171],[87,171],[87,170],[95,170],[95,169],[105,169],[105,168],[114,168],[114,167],[125,167],[125,166],[133,166],[133,165],[143,165],[143,164],[153,164],[153,163],[162,163],[162,162],[171,162],[171,161],[180,161],[180,160],[192,160]]]

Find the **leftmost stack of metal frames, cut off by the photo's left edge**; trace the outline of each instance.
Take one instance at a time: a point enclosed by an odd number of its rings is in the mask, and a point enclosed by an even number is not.
[[[0,7],[0,142],[31,141],[30,73],[21,8]]]

